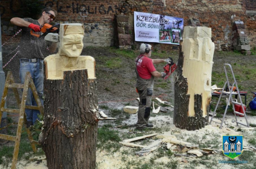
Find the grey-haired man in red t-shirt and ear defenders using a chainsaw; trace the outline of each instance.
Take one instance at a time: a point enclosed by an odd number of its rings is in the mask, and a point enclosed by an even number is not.
[[[164,78],[166,76],[166,73],[160,73],[156,71],[156,68],[153,64],[159,64],[163,62],[170,64],[171,62],[170,59],[150,59],[151,52],[151,45],[142,43],[140,45],[140,55],[136,59],[136,89],[139,93],[139,112],[136,128],[139,130],[145,127],[153,127],[153,124],[148,123],[148,120],[154,88],[154,78]]]

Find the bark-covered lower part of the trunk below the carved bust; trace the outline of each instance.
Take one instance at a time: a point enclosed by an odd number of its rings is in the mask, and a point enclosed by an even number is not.
[[[49,169],[94,169],[98,125],[96,79],[88,79],[85,69],[63,74],[63,80],[44,80],[45,114],[39,142]]]

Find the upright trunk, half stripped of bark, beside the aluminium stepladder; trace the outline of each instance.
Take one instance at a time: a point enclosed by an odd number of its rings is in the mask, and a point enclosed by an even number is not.
[[[211,28],[185,27],[175,76],[176,127],[197,130],[209,122],[214,43]]]

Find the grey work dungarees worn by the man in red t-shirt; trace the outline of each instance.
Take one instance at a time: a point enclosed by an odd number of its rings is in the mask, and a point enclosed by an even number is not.
[[[141,79],[137,73],[136,88],[139,93],[139,112],[136,127],[141,129],[147,125],[150,116],[150,107],[154,88],[154,76],[152,76],[151,79],[146,80]]]

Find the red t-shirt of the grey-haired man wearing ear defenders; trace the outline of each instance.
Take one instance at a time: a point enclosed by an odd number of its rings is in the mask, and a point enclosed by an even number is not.
[[[138,60],[139,58],[139,60]],[[138,60],[138,62],[137,62]],[[139,73],[139,77],[142,79],[150,79],[152,74],[151,72],[156,71],[155,66],[153,65],[152,59],[139,55],[136,59],[137,62],[137,71]]]

